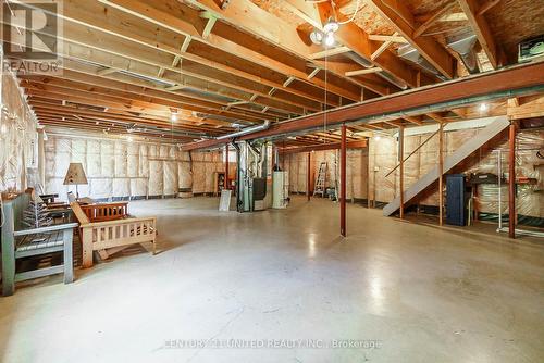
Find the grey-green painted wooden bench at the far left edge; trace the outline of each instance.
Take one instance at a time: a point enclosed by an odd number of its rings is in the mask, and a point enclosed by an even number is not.
[[[64,273],[64,284],[74,280],[72,261],[73,229],[77,223],[66,223],[49,227],[23,229],[23,212],[28,206],[30,196],[23,193],[3,202],[4,221],[1,234],[2,246],[2,295],[15,291],[15,283]],[[63,263],[16,273],[18,259],[63,252]]]

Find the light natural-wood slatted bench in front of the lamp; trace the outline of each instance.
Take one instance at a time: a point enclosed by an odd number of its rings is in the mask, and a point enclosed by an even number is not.
[[[99,251],[100,256],[107,259],[131,245],[150,242],[156,253],[156,217],[90,222],[77,202],[70,205],[79,222],[83,267],[92,266],[92,251]]]

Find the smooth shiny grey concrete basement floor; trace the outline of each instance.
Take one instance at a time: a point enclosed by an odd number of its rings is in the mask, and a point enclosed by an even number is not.
[[[348,205],[341,240],[330,201],[242,215],[217,205],[132,202],[159,217],[163,252],[0,298],[0,361],[544,362],[544,245],[359,205]],[[185,349],[184,339],[267,348]],[[363,347],[289,349],[295,339]]]

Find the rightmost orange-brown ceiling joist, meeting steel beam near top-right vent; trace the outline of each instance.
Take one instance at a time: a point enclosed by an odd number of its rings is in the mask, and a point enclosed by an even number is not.
[[[500,66],[500,52],[498,45],[495,42],[491,28],[484,15],[480,15],[479,3],[475,0],[458,0],[462,11],[467,14],[469,23],[478,37],[480,46],[482,46],[487,59],[493,68]]]

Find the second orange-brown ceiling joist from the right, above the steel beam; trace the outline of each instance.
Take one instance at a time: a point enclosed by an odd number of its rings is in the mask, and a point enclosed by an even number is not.
[[[420,54],[441,74],[449,79],[455,77],[456,59],[435,39],[413,37],[416,22],[408,8],[398,0],[369,0],[368,4],[383,18],[388,20],[396,32],[406,38]]]

